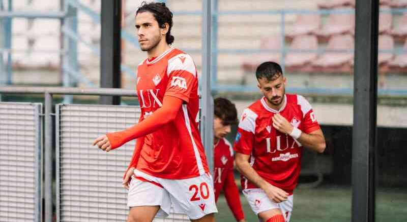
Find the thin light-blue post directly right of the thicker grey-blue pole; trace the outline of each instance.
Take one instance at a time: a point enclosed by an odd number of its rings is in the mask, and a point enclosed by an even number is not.
[[[212,25],[211,25],[211,84],[216,87],[218,82],[218,0],[212,0]]]

